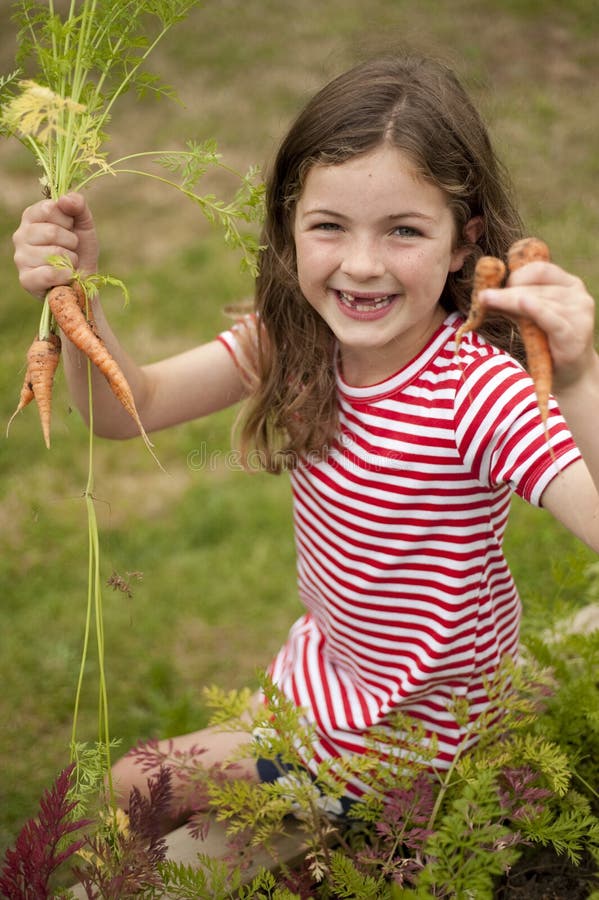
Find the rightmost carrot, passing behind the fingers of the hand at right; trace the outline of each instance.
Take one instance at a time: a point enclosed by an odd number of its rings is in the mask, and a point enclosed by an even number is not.
[[[551,256],[547,244],[534,237],[516,241],[510,247],[507,257],[510,272],[515,272],[516,269],[525,266],[529,262],[537,260],[548,262],[550,259]],[[547,427],[549,394],[551,393],[553,375],[553,364],[547,336],[538,325],[535,325],[534,322],[525,316],[519,317],[518,327],[526,351],[528,372],[534,382],[541,419],[543,425]]]

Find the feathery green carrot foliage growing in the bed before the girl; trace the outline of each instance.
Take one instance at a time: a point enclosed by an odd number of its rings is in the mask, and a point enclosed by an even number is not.
[[[580,715],[571,693],[582,672],[592,671],[595,652],[595,638],[587,635],[539,644],[518,666],[506,661],[487,686],[490,696],[501,699],[503,717],[489,713],[471,721],[457,700],[455,715],[467,729],[466,739],[477,743],[443,772],[431,768],[431,747],[418,723],[398,716],[392,729],[373,732],[365,757],[329,764],[310,776],[302,759],[313,731],[266,677],[267,705],[252,715],[248,691],[211,689],[213,724],[257,732],[255,754],[279,765],[282,779],[231,780],[222,770],[169,760],[182,767],[182,777],[198,779],[208,800],[205,816],[226,823],[231,847],[220,860],[199,854],[192,867],[161,861],[155,896],[491,900],[502,876],[535,847],[550,848],[575,866],[594,860],[599,869],[596,793],[579,775],[584,760],[575,740],[578,728],[579,743],[596,747],[593,717],[585,707],[594,696],[592,678]],[[401,771],[374,765],[381,744],[387,753],[404,756]],[[93,782],[98,766],[91,752],[89,759]],[[322,798],[338,799],[345,781],[355,777],[367,787],[363,802],[348,819],[332,818]],[[291,815],[303,861],[289,869],[273,839],[285,832]],[[255,847],[270,849],[273,870],[261,869],[250,879],[242,862]]]

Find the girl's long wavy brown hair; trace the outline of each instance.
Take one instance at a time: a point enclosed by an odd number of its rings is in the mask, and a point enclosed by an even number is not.
[[[240,443],[245,458],[257,452],[268,471],[292,467],[307,454],[326,454],[337,426],[334,335],[298,286],[297,201],[313,166],[340,165],[384,142],[407,154],[418,175],[444,191],[456,235],[472,217],[482,218],[482,233],[463,268],[448,274],[440,297],[446,310],[466,314],[476,259],[505,258],[522,235],[487,129],[447,66],[414,56],[378,58],[317,93],[292,124],[267,177],[255,297],[261,328]],[[522,358],[517,331],[507,320],[495,319],[481,331]]]

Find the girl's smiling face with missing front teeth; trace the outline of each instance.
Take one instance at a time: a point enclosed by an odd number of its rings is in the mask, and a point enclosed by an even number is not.
[[[475,222],[465,239],[475,239]],[[345,380],[375,384],[397,372],[443,321],[447,273],[468,253],[456,246],[443,192],[383,144],[314,166],[293,227],[301,291],[338,340]]]

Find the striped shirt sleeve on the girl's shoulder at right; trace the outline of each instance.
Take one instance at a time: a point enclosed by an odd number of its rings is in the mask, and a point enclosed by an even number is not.
[[[456,441],[475,477],[488,487],[508,485],[529,503],[580,458],[555,398],[543,426],[527,372],[500,352],[474,358],[455,395]]]

